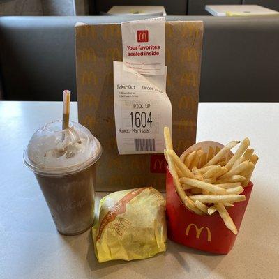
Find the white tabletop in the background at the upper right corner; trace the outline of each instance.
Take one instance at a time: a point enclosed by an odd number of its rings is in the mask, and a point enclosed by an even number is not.
[[[227,12],[248,13],[249,15],[273,15],[278,13],[276,10],[259,5],[206,5],[205,10],[217,17],[225,17]]]

